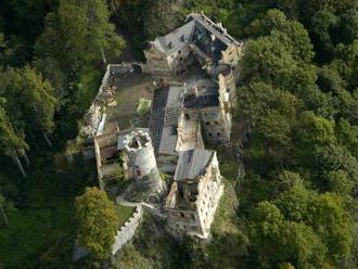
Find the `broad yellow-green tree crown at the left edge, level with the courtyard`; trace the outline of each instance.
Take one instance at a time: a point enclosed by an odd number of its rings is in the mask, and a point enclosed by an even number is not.
[[[49,80],[35,68],[8,68],[0,74],[0,85],[7,98],[5,110],[15,129],[44,136],[52,133],[57,100]],[[33,137],[34,139],[34,137]]]

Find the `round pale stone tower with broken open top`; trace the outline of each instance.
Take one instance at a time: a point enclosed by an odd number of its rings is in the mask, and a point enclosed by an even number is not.
[[[129,157],[129,168],[140,190],[162,193],[164,184],[156,166],[150,134],[143,130],[132,131],[126,136],[123,143]]]

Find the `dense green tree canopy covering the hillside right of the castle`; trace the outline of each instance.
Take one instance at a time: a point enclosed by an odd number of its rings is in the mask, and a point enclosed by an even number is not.
[[[353,213],[345,205],[358,178],[357,50],[355,42],[336,46],[343,40],[337,28],[349,12],[344,4],[307,3],[310,18],[301,13],[304,1],[279,2],[289,17],[309,27],[272,10],[247,28],[256,39],[245,44],[238,89],[238,118],[251,127],[240,210],[251,219],[250,240],[261,267],[320,268],[332,261],[342,267],[351,244]],[[312,60],[329,64],[318,68]]]

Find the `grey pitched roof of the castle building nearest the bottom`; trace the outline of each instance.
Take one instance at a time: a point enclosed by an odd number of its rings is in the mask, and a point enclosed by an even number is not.
[[[205,168],[209,165],[214,153],[214,151],[200,149],[180,152],[175,180],[195,179],[204,175]]]

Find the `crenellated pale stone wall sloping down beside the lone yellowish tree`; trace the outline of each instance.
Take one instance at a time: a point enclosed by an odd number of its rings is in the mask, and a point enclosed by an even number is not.
[[[143,215],[143,208],[141,205],[137,206],[137,209],[135,214],[128,219],[117,231],[117,234],[115,236],[115,242],[112,245],[111,253],[112,255],[116,255],[118,251],[122,249],[124,244],[128,243],[130,241],[137,231],[137,228],[139,227],[139,223],[141,221]]]

